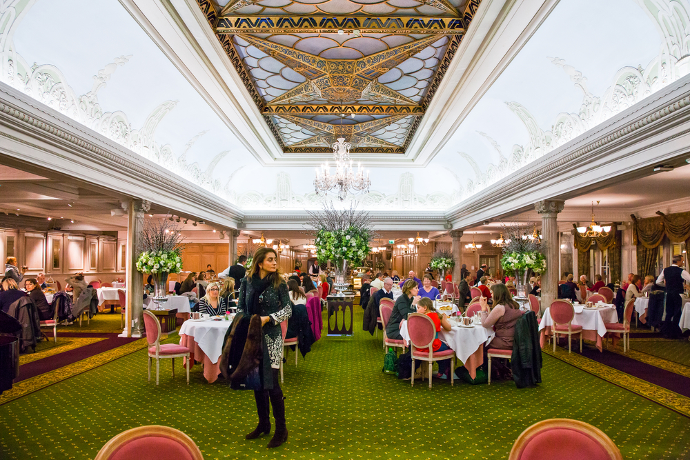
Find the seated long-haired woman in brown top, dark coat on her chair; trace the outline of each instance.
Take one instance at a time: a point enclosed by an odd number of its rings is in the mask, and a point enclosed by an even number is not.
[[[493,308],[489,309],[489,300],[482,296],[479,303],[482,306],[482,326],[493,328],[496,335],[487,348],[500,348],[501,350],[513,350],[513,337],[515,336],[515,323],[522,317],[520,305],[513,300],[511,293],[503,283],[495,283],[491,286],[493,293]]]

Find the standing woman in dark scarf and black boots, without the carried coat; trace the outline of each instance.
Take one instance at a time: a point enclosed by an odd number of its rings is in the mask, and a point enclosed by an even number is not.
[[[311,280],[309,280],[311,281]],[[258,314],[264,328],[264,350],[270,356],[270,375],[262,374],[263,390],[254,391],[259,414],[259,426],[246,439],[255,439],[270,433],[268,401],[273,407],[275,432],[268,448],[280,446],[288,439],[285,424],[285,401],[280,388],[280,361],[282,360],[283,334],[280,323],[292,315],[288,286],[278,270],[278,254],[273,248],[259,248],[254,253],[251,272],[242,279],[239,288],[237,310],[249,315]],[[262,366],[259,363],[259,366]]]

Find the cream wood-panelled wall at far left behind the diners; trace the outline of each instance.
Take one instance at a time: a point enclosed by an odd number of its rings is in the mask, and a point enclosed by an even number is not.
[[[0,229],[0,259],[17,257],[20,268],[28,266],[25,279],[43,272],[64,285],[68,275],[83,272],[87,282],[110,282],[124,278],[126,243],[103,235]]]

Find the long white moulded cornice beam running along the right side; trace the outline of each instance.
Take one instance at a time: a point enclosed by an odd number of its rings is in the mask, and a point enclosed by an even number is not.
[[[545,154],[446,212],[453,228],[533,209],[685,164],[690,145],[690,76]]]

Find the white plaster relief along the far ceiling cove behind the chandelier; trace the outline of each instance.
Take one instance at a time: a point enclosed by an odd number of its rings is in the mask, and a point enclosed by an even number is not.
[[[232,178],[230,178],[232,179]],[[228,179],[228,183],[230,182]],[[305,209],[321,208],[322,203],[331,201],[333,195],[317,195],[316,193],[295,194],[290,184],[290,174],[279,172],[276,174],[277,187],[275,193],[262,194],[256,191],[244,193],[230,192],[230,203],[237,204],[243,209]],[[229,189],[228,189],[229,190]],[[400,174],[398,190],[394,194],[369,192],[363,195],[348,195],[344,206],[357,201],[359,207],[371,210],[445,210],[457,196],[442,192],[420,195],[415,192],[415,179],[411,172]]]

